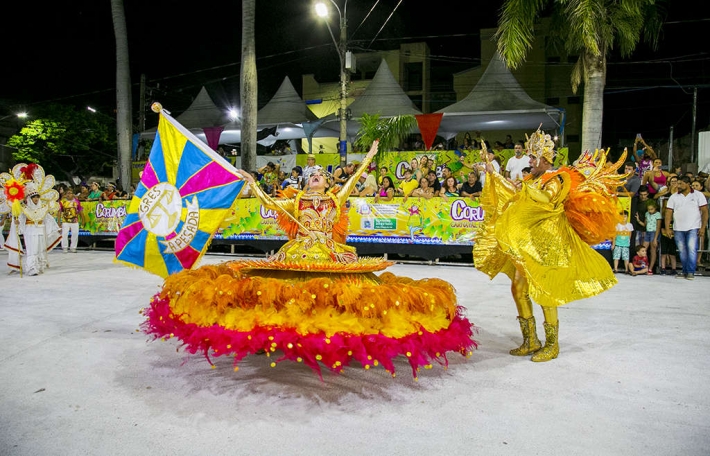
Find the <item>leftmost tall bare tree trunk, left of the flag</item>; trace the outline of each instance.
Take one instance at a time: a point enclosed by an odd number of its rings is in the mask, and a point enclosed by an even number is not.
[[[131,73],[128,61],[128,31],[123,0],[111,0],[113,33],[116,37],[116,143],[121,188],[131,185]]]

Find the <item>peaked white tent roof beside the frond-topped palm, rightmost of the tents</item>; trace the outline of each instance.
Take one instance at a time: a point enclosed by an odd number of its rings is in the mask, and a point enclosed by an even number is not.
[[[437,111],[443,113],[439,134],[463,131],[555,130],[564,110],[533,100],[496,52],[476,86],[463,100]]]

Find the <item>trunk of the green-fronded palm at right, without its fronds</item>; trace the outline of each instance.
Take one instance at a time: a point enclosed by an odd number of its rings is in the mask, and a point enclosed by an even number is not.
[[[606,56],[587,56],[582,110],[582,152],[602,147]]]

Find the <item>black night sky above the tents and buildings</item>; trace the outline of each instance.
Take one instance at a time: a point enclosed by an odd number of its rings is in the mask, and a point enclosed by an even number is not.
[[[187,108],[203,85],[218,104],[238,101],[240,2],[124,1],[134,105],[141,74],[154,98],[174,113]],[[50,101],[91,105],[110,114],[115,106],[115,42],[109,0],[8,3],[0,7],[6,43],[0,117]],[[500,3],[441,0],[427,9],[421,2],[402,1],[395,9],[397,0],[351,0],[350,48],[393,49],[425,40],[435,65],[450,68],[445,71],[449,74],[461,71],[478,65],[478,30],[496,25]],[[681,10],[679,3],[667,4],[668,23],[658,50],[642,44],[628,59],[610,57],[605,143],[633,140],[637,132],[662,139],[671,125],[676,136],[689,133],[693,86],[699,87],[697,127],[710,123],[710,40],[703,32],[710,18],[703,18],[697,6]],[[299,92],[303,73],[314,73],[322,82],[338,79],[336,51],[311,2],[257,1],[256,29],[260,106],[285,76]]]

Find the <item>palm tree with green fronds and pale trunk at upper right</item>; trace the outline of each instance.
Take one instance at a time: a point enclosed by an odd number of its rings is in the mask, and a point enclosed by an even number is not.
[[[572,70],[572,90],[584,83],[582,150],[602,143],[604,86],[607,56],[617,47],[622,57],[636,49],[640,39],[658,45],[661,14],[658,0],[505,0],[498,21],[498,52],[515,69],[525,61],[534,40],[537,17],[550,8],[553,38],[569,55],[579,55]],[[546,10],[545,10],[546,11]]]

